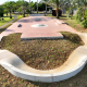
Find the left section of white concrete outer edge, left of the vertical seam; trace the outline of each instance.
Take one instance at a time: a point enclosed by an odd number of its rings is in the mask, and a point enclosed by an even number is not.
[[[38,79],[38,77],[40,77],[41,79],[45,78],[45,80],[48,80],[46,83],[52,83],[52,82],[49,82],[50,80],[49,78],[52,79],[52,77],[51,77],[52,75],[50,76],[50,74],[46,76],[46,74],[40,75],[40,74],[36,74],[36,73],[25,72],[25,71],[16,69],[13,65],[4,63],[4,62],[1,62],[1,65],[5,70],[8,70],[10,73],[12,73],[14,76],[21,77],[23,79],[29,79],[29,80],[34,80],[34,82],[41,82],[41,80]],[[42,82],[45,82],[45,80],[42,80]]]

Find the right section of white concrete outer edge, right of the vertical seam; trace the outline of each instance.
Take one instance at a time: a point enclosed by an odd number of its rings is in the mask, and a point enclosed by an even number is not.
[[[65,71],[64,74],[62,74],[62,75],[53,74],[53,82],[60,82],[60,80],[67,79],[72,76],[75,76],[78,72],[80,72],[84,69],[85,64],[86,64],[86,62],[83,61],[76,67],[74,67],[70,71]]]

